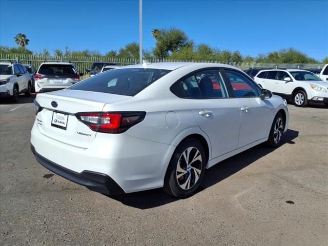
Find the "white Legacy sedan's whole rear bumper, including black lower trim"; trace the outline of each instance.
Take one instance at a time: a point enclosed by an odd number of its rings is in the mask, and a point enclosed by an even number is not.
[[[48,168],[51,163],[48,169],[55,173],[57,169],[53,170],[53,167],[59,166],[69,175],[64,176],[63,172],[58,175],[105,194],[112,194],[110,187],[105,185],[104,188],[104,183],[112,186],[113,182],[108,181],[110,179],[125,193],[162,187],[168,163],[176,148],[135,138],[127,133],[97,133],[87,148],[77,147],[44,135],[39,131],[37,122],[34,122],[31,131],[31,144],[34,153],[37,153],[36,159],[43,166]],[[45,162],[48,166],[44,165]],[[89,182],[94,182],[94,179],[85,176],[90,176],[90,173],[104,175],[106,178],[99,177],[106,181],[90,186]]]

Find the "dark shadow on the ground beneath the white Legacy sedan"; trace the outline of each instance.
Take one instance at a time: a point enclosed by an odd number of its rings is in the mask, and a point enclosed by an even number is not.
[[[297,137],[298,131],[288,129],[283,135],[283,142],[279,148],[282,148],[285,144],[295,144],[293,140]],[[202,185],[197,192],[201,192],[221,180],[230,177],[234,173],[251,165],[254,161],[273,152],[274,150],[275,149],[265,147],[264,145],[258,145],[217,163],[214,167],[206,170]],[[127,206],[142,210],[159,207],[178,200],[177,198],[167,195],[161,189],[110,196],[110,198],[115,199]]]

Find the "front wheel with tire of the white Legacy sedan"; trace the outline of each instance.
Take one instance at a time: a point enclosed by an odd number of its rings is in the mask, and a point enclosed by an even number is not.
[[[285,121],[281,113],[277,113],[273,120],[267,146],[271,148],[277,148],[282,144],[282,135],[285,128]]]

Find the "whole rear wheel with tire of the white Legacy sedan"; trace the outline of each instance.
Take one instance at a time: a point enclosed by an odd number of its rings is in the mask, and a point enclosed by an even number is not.
[[[182,141],[170,160],[163,190],[177,198],[192,195],[203,179],[206,162],[204,148],[198,140]]]

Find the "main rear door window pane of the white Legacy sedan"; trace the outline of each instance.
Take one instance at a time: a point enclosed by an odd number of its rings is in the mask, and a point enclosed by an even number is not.
[[[219,70],[206,70],[195,74],[203,98],[228,97],[228,90]]]

